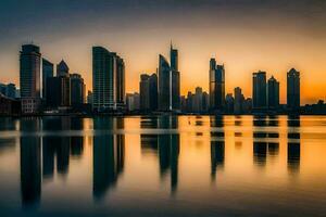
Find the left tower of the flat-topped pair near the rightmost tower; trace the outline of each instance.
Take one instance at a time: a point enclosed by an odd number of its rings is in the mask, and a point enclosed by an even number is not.
[[[266,108],[266,73],[259,71],[252,75],[253,108]]]

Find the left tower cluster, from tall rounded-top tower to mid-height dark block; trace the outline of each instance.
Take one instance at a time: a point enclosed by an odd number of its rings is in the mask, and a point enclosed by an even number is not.
[[[62,60],[57,65],[41,58],[35,44],[23,44],[20,53],[20,84],[23,114],[47,108],[72,108],[85,103],[85,84],[79,74],[70,74]]]

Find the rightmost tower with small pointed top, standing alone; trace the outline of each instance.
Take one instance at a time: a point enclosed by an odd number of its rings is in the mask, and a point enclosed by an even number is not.
[[[300,72],[294,68],[287,74],[287,106],[290,111],[300,110]]]

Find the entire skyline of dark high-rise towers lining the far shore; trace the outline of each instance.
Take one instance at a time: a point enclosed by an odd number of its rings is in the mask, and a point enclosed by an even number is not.
[[[70,74],[62,60],[57,65],[41,58],[39,47],[22,46],[20,53],[21,104],[24,114],[42,110],[72,110],[85,105],[85,84],[79,74]],[[92,93],[89,104],[93,112],[197,112],[197,113],[251,113],[300,110],[300,73],[287,73],[287,105],[279,104],[279,82],[265,72],[253,73],[252,99],[246,99],[239,87],[234,95],[225,92],[225,67],[210,60],[209,93],[201,88],[196,93],[180,95],[178,50],[171,44],[170,62],[159,55],[156,73],[140,75],[140,93],[125,94],[125,63],[115,52],[103,47],[92,48]]]

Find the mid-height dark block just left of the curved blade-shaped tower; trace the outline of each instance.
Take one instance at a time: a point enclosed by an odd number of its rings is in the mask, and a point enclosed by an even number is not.
[[[140,110],[155,111],[158,110],[158,76],[156,74],[140,75]]]

